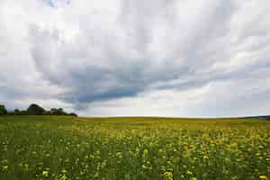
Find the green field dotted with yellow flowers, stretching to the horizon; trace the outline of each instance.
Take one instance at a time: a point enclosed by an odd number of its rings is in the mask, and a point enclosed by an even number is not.
[[[269,179],[270,121],[0,117],[0,179]]]

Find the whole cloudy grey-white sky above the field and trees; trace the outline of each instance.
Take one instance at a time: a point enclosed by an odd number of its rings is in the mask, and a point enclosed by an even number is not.
[[[0,103],[270,114],[269,0],[0,0]]]

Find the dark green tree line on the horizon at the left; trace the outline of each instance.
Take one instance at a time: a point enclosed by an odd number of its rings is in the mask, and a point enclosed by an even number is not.
[[[26,110],[14,109],[14,111],[7,111],[3,104],[0,104],[0,115],[68,115],[77,116],[76,113],[67,113],[63,108],[51,108],[49,111],[43,109],[40,105],[32,103]]]

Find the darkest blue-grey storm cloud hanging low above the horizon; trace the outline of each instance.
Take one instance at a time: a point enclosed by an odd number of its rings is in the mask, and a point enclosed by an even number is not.
[[[104,55],[101,60],[106,62],[105,67],[99,67],[98,61],[97,65],[85,63],[84,67],[73,67],[72,64],[68,64],[67,58],[75,61],[83,58],[85,62],[96,59],[91,54],[85,54],[84,57],[82,56],[84,53],[80,52],[69,53],[69,57],[66,58],[66,54],[62,54],[62,51],[76,49],[78,44],[68,47],[70,45],[58,39],[58,31],[42,31],[37,27],[31,27],[31,37],[35,45],[31,49],[31,54],[37,68],[51,83],[72,89],[72,92],[63,94],[62,97],[73,103],[133,96],[153,83],[172,80],[188,72],[186,67],[174,66],[176,63],[171,62],[166,62],[162,67],[151,67],[147,57],[132,62],[129,61],[132,57],[125,58],[119,55],[117,52],[119,49],[106,51],[106,45],[101,47]],[[58,43],[60,45],[56,47],[55,44]],[[91,40],[87,43],[91,43]],[[46,59],[51,61],[48,62]]]

